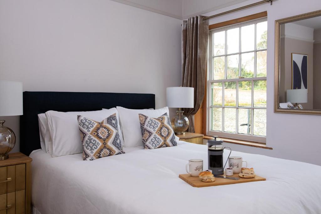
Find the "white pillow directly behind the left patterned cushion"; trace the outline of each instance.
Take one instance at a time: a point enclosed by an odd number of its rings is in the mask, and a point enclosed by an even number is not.
[[[82,153],[83,147],[78,128],[78,115],[91,118],[95,121],[102,121],[112,114],[116,114],[117,119],[119,119],[116,108],[83,112],[47,111],[46,116],[52,139],[52,149],[50,149],[49,145],[51,157]],[[119,123],[118,130],[120,140],[124,142]]]

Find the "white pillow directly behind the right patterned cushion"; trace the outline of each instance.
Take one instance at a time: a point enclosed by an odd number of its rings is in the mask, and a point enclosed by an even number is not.
[[[138,114],[143,114],[149,117],[159,117],[165,113],[169,115],[168,107],[160,109],[128,109],[124,107],[116,107],[119,112],[121,130],[124,137],[125,147],[143,146],[143,138],[140,130]],[[175,136],[176,141],[179,140]]]

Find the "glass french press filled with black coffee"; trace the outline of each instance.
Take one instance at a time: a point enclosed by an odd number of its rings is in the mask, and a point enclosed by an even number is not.
[[[207,146],[208,146],[208,169],[212,170],[212,174],[215,175],[223,175],[224,174],[224,168],[226,166],[227,161],[229,160],[229,157],[231,155],[231,148],[230,147],[223,147],[223,141],[217,141],[217,136],[214,136],[214,140],[208,140]],[[230,149],[229,157],[227,157],[227,160],[223,167],[223,150],[225,148]]]

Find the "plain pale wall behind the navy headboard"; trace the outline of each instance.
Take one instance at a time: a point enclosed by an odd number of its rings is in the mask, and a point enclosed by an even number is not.
[[[180,49],[181,20],[114,1],[0,1],[0,78],[23,90],[154,93],[164,107]]]

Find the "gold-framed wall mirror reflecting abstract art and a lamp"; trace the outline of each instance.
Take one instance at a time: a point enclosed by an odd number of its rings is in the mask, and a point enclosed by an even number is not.
[[[275,21],[274,112],[321,115],[321,10]]]

